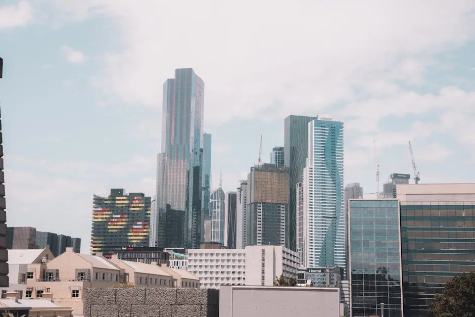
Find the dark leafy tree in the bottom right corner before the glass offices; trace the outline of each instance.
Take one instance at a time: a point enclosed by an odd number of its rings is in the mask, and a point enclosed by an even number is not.
[[[454,277],[429,310],[435,317],[475,317],[475,272]]]

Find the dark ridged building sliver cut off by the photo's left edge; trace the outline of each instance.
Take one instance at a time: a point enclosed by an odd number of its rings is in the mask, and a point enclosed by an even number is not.
[[[0,78],[3,77],[4,60],[0,57]],[[7,208],[5,202],[4,148],[2,146],[2,120],[0,119],[0,250],[7,249]],[[0,287],[8,287],[8,254],[0,252]]]

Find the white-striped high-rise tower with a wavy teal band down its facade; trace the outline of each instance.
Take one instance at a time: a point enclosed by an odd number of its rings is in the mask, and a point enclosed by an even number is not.
[[[303,177],[304,267],[346,270],[343,122],[318,118],[308,123]]]

